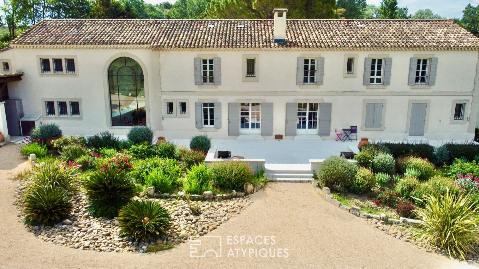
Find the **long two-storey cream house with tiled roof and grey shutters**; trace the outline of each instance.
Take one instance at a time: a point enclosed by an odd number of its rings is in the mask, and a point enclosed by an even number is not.
[[[355,125],[383,140],[473,138],[479,38],[451,20],[286,20],[286,11],[42,20],[0,52],[0,132],[147,125],[167,138],[320,140]]]

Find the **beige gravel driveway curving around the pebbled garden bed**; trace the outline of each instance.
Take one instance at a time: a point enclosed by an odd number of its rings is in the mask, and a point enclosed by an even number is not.
[[[12,205],[17,181],[7,179],[27,168],[19,145],[0,147],[0,268],[98,269],[98,268],[468,268],[465,263],[426,253],[371,228],[322,200],[306,183],[269,183],[255,193],[244,212],[208,235],[222,235],[222,258],[190,258],[190,243],[156,254],[96,253],[57,247],[28,233]],[[274,235],[274,245],[228,245],[228,235]],[[202,237],[200,237],[201,239]],[[209,238],[211,239],[211,238]],[[218,243],[203,238],[207,247]],[[263,240],[264,241],[264,240]],[[234,241],[233,241],[234,242]],[[270,242],[272,242],[270,240]],[[258,242],[260,243],[260,242]],[[204,246],[205,247],[205,246]],[[235,248],[287,248],[287,258],[228,255]],[[249,251],[249,250],[248,250]],[[253,250],[254,251],[254,250]],[[285,255],[285,250],[282,250]],[[261,253],[261,251],[260,251]],[[277,252],[275,252],[277,253]],[[211,253],[210,253],[211,254]],[[228,257],[229,256],[229,257]]]

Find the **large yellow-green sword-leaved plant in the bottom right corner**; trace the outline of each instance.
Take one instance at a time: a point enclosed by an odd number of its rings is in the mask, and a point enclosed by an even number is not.
[[[422,221],[417,238],[447,250],[449,256],[462,258],[476,251],[479,241],[478,207],[466,194],[446,191],[438,197],[427,196],[424,209],[415,213]]]

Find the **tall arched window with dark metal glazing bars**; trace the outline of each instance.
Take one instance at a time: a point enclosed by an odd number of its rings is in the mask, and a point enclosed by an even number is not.
[[[146,125],[143,70],[132,58],[120,57],[108,68],[113,126]]]

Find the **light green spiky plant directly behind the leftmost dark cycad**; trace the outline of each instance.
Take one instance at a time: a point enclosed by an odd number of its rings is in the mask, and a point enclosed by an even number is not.
[[[29,175],[31,179],[26,183],[26,191],[23,198],[26,198],[30,192],[43,189],[47,186],[60,187],[68,192],[68,195],[80,190],[79,166],[64,165],[60,159],[54,159],[34,168]]]

